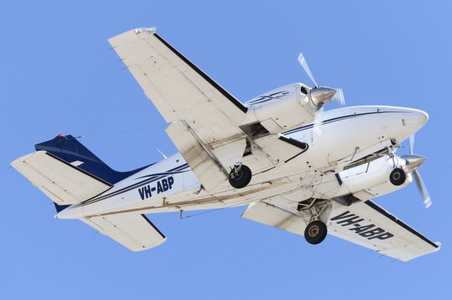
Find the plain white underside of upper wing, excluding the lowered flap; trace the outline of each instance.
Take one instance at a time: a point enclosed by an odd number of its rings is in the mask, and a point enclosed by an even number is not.
[[[186,120],[205,144],[243,135],[246,106],[155,31],[130,30],[109,43],[167,122]]]

